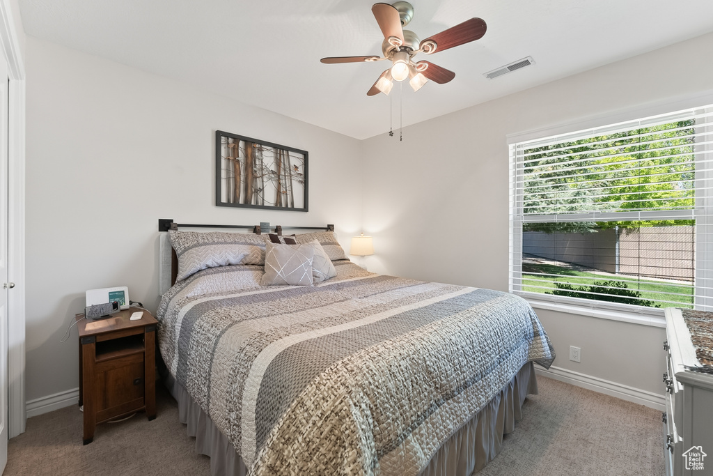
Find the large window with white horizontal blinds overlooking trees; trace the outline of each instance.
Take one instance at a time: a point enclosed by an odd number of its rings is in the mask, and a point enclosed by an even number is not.
[[[513,143],[510,289],[713,310],[713,106]]]

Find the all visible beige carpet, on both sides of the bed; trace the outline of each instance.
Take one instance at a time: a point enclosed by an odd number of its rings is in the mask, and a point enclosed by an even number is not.
[[[538,377],[523,420],[478,476],[663,475],[661,412]],[[208,457],[178,422],[178,405],[160,388],[158,416],[98,425],[82,445],[76,406],[27,420],[9,442],[4,475],[210,475]]]

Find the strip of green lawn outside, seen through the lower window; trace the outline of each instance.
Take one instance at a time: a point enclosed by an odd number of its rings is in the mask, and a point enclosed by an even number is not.
[[[562,275],[567,277],[563,278]],[[629,289],[641,292],[642,299],[673,301],[673,303],[660,303],[662,308],[693,308],[693,284],[681,285],[655,279],[640,280],[614,274],[597,275],[556,265],[523,264],[523,290],[531,293],[547,293],[548,290],[555,289],[555,281],[581,285],[592,284],[595,280],[626,281]],[[533,286],[542,286],[547,289]]]

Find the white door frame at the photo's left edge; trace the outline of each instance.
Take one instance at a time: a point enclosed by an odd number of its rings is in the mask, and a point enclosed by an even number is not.
[[[0,0],[0,49],[9,75],[8,435],[25,431],[25,33],[16,0]]]

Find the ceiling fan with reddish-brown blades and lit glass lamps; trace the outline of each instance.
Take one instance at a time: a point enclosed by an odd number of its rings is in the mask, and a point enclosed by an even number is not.
[[[471,18],[421,41],[413,31],[403,29],[414,18],[414,7],[409,2],[397,1],[393,5],[374,4],[371,12],[374,13],[376,23],[384,34],[384,42],[381,44],[381,52],[384,56],[338,56],[321,60],[325,64],[390,60],[391,67],[381,73],[374,86],[371,86],[366,93],[367,96],[374,96],[379,92],[388,95],[391,87],[394,86],[393,81],[404,81],[407,78],[414,91],[418,91],[429,79],[439,84],[448,83],[456,77],[453,71],[448,71],[429,61],[416,62],[414,56],[419,53],[434,54],[453,46],[476,41],[486,34],[486,22],[479,18]]]

